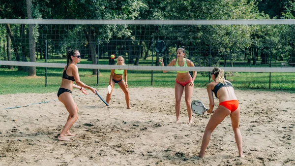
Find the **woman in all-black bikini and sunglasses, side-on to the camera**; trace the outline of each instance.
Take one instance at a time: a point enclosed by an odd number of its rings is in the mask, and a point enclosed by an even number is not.
[[[70,128],[78,119],[78,106],[72,97],[73,88],[80,89],[80,91],[82,91],[86,95],[87,93],[84,88],[91,90],[94,94],[96,91],[96,89],[91,88],[88,85],[84,84],[82,81],[80,81],[78,67],[76,66],[78,63],[80,63],[80,59],[81,56],[78,50],[73,49],[67,51],[67,66],[65,66],[63,69],[62,81],[58,92],[58,98],[59,101],[61,101],[64,104],[66,110],[69,112],[70,115],[67,118],[63,130],[59,134],[58,140],[61,141],[71,141],[71,139],[67,138],[65,135],[75,136],[74,134],[69,132]],[[74,84],[74,81],[76,81],[77,85]]]

